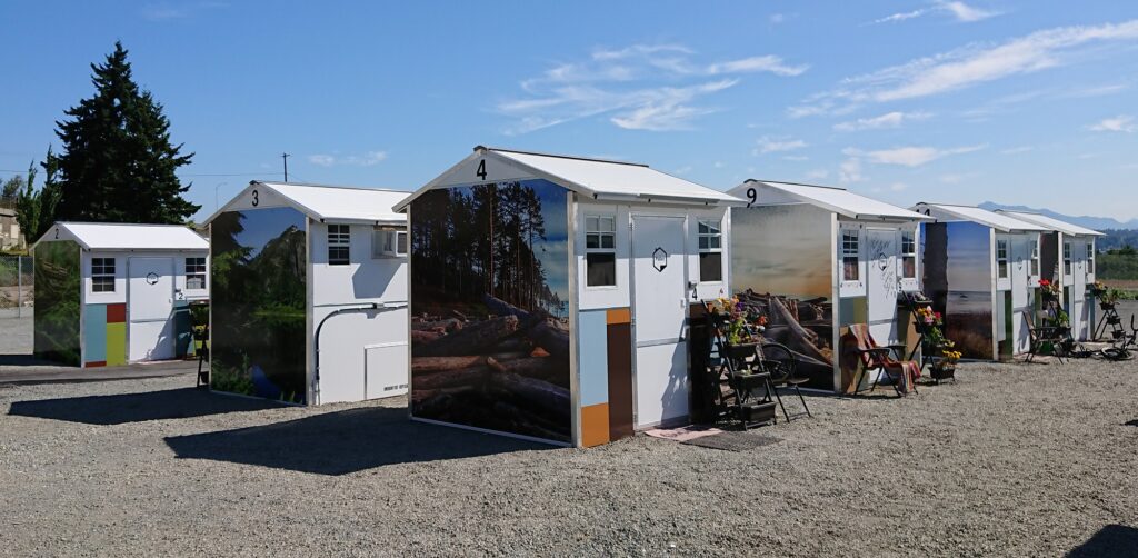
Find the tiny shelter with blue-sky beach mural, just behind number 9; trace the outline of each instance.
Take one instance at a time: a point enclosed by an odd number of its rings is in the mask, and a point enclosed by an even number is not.
[[[1039,307],[1039,235],[1046,229],[967,205],[920,203],[925,223],[924,282],[945,336],[966,359],[1028,352]]]

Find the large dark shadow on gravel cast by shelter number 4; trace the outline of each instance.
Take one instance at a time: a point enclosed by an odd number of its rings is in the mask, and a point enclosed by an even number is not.
[[[345,475],[385,465],[438,461],[550,445],[407,419],[405,408],[327,412],[287,422],[187,436],[166,444],[181,459]]]

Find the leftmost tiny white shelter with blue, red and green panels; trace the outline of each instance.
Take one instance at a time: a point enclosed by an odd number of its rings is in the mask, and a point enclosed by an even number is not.
[[[209,245],[176,224],[57,222],[35,256],[34,352],[82,368],[193,352]]]

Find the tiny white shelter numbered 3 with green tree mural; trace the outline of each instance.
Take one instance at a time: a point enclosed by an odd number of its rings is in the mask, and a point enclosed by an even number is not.
[[[406,393],[407,192],[253,181],[207,221],[209,388],[289,403]]]

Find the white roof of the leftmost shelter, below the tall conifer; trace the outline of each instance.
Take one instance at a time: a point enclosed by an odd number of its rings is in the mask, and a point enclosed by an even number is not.
[[[84,249],[209,249],[209,243],[181,224],[72,223],[51,225],[35,243],[74,240]]]

